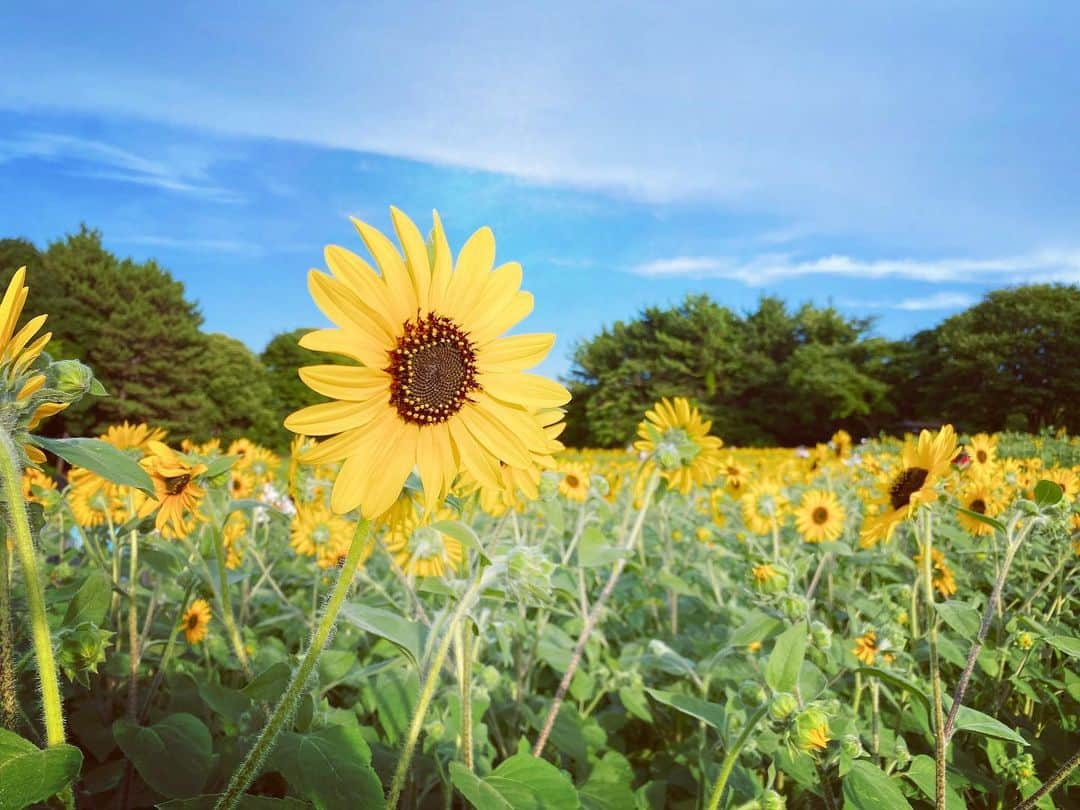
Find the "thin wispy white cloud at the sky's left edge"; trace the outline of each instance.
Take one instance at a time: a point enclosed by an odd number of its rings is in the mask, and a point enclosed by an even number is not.
[[[33,132],[0,139],[0,164],[16,160],[43,160],[92,179],[130,183],[163,191],[199,197],[213,202],[239,202],[241,197],[213,183],[205,158],[151,159],[92,138]]]

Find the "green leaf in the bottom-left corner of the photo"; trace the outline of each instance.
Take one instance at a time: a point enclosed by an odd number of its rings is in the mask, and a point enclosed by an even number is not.
[[[73,745],[42,751],[0,728],[0,810],[22,810],[55,796],[79,777],[82,752]]]

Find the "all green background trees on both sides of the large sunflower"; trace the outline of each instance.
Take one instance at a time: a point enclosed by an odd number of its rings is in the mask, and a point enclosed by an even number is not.
[[[0,240],[0,283],[29,268],[30,301],[50,314],[51,349],[81,357],[110,396],[50,420],[56,435],[93,435],[123,419],[174,436],[240,435],[282,449],[283,416],[318,401],[296,375],[325,363],[276,335],[261,354],[206,334],[184,285],[154,261],[121,259],[85,226],[41,251]],[[1076,432],[1080,416],[1080,287],[988,294],[905,340],[831,307],[762,297],[734,312],[705,295],[650,307],[600,328],[573,353],[565,438],[616,446],[662,396],[690,396],[728,444],[797,445],[839,427],[855,436],[951,422],[962,431]]]

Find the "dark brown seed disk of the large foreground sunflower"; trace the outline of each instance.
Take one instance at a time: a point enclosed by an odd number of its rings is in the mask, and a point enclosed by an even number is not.
[[[428,314],[405,323],[390,352],[390,403],[415,424],[445,422],[480,388],[476,350],[454,321]]]

